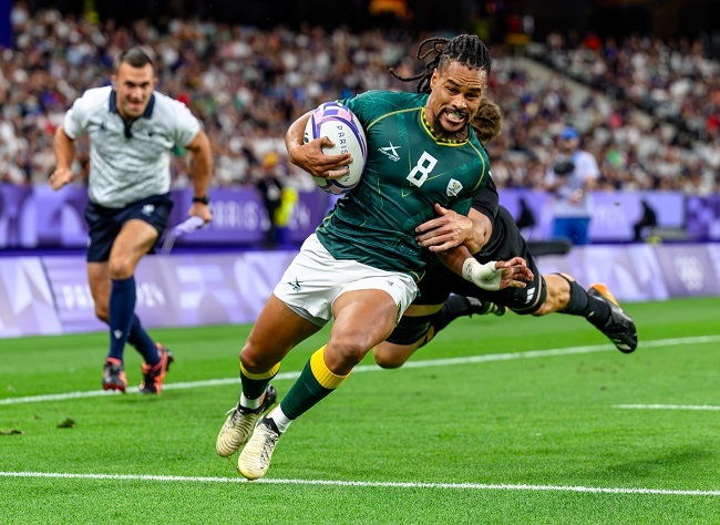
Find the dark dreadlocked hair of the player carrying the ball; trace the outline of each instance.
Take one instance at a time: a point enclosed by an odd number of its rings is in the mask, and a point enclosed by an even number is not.
[[[418,93],[430,93],[430,78],[438,70],[443,70],[450,62],[460,62],[471,70],[483,70],[490,74],[490,68],[493,59],[490,56],[490,50],[475,34],[459,34],[452,39],[435,37],[425,39],[420,42],[418,48],[418,60],[425,60],[431,56],[425,64],[425,71],[413,76],[399,75],[394,69],[390,69],[390,74],[403,82],[418,82]]]

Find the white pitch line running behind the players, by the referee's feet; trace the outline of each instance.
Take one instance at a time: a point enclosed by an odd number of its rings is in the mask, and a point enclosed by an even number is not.
[[[672,339],[657,339],[654,341],[642,341],[638,344],[638,347],[642,349],[642,348],[671,347],[676,344],[708,344],[713,342],[720,342],[720,334],[697,336],[697,337],[688,337],[688,338],[672,338]],[[572,356],[578,353],[606,352],[610,350],[616,351],[615,346],[589,344],[584,347],[552,348],[548,350],[528,350],[525,352],[490,353],[485,356],[471,356],[466,358],[432,359],[428,361],[409,361],[405,364],[403,364],[402,368],[410,369],[410,368],[450,367],[455,364],[510,361],[515,359],[535,359],[535,358],[548,358],[548,357],[556,357],[556,356]],[[379,371],[383,371],[383,369],[381,369],[376,364],[362,364],[356,367],[352,373],[379,372]],[[299,371],[278,373],[275,377],[274,381],[295,380],[299,375],[300,375]],[[187,390],[187,389],[198,389],[204,387],[223,387],[227,384],[239,384],[239,382],[240,382],[239,378],[209,379],[205,381],[187,381],[181,383],[165,384],[163,385],[163,390]],[[137,387],[128,388],[127,392],[128,393],[137,392]],[[119,395],[119,393],[109,392],[104,390],[89,390],[84,392],[65,392],[65,393],[56,393],[56,394],[28,395],[23,398],[0,399],[0,405],[38,403],[42,401],[65,401],[69,399],[99,398],[103,395]]]

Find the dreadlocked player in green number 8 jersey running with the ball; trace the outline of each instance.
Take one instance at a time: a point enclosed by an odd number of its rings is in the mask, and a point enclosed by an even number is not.
[[[470,124],[487,86],[490,51],[477,37],[461,34],[423,42],[418,58],[425,56],[432,59],[418,79],[429,94],[370,91],[341,101],[363,126],[366,172],[305,241],[258,316],[240,351],[240,400],[216,442],[222,456],[245,445],[238,471],[249,480],[267,473],[290,423],[340,387],[415,298],[425,265],[415,227],[434,216],[435,204],[467,214],[487,183],[487,154]],[[309,115],[287,132],[291,162],[313,176],[344,175],[352,158],[325,155],[327,137],[304,144]],[[522,258],[484,270],[494,287],[532,279]],[[277,399],[269,383],[281,359],[330,320],[327,344],[265,414]]]

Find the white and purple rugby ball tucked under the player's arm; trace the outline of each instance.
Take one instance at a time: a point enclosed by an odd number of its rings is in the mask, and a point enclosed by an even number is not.
[[[327,136],[335,146],[323,147],[326,155],[350,153],[352,163],[350,172],[340,178],[312,177],[315,183],[325,192],[343,195],[356,187],[362,177],[368,161],[368,143],[360,121],[349,107],[339,102],[326,102],[310,114],[305,126],[304,142]]]

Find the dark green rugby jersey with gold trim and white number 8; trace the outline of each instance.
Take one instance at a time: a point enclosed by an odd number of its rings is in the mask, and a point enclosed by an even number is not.
[[[487,153],[471,131],[464,142],[439,138],[425,119],[426,94],[369,91],[340,103],[368,140],[358,186],[338,200],[316,233],[336,259],[354,259],[422,277],[414,229],[435,203],[467,215],[490,176]]]

